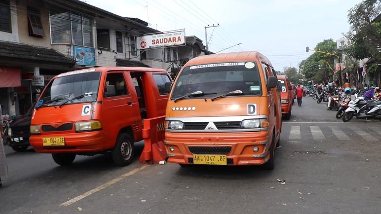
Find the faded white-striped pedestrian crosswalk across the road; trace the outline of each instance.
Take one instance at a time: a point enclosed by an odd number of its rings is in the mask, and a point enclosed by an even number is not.
[[[284,126],[282,138],[291,141],[381,141],[381,126],[292,125]]]

